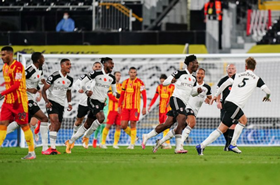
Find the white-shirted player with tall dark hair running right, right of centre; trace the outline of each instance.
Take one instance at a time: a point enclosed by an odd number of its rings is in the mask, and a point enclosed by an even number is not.
[[[175,129],[176,148],[175,153],[187,153],[182,149],[182,131],[185,128],[187,120],[186,106],[191,95],[196,96],[201,93],[201,88],[194,87],[196,78],[192,75],[198,68],[196,56],[190,55],[186,57],[184,63],[187,65],[183,71],[175,71],[164,82],[163,85],[169,85],[175,82],[175,89],[170,97],[171,113],[167,114],[167,119],[164,124],[159,124],[148,134],[143,134],[142,148],[145,149],[148,139],[158,135],[165,129],[170,128],[176,121],[178,126]]]

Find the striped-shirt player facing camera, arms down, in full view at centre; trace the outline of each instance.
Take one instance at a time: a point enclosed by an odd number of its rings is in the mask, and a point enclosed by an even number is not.
[[[136,140],[136,122],[140,116],[141,95],[143,98],[142,114],[146,114],[147,95],[145,84],[136,77],[135,67],[129,69],[129,78],[122,83],[122,92],[119,99],[119,113],[121,113],[121,128],[131,136],[128,149],[134,149]],[[122,108],[122,109],[121,109]],[[127,126],[130,121],[131,129]]]

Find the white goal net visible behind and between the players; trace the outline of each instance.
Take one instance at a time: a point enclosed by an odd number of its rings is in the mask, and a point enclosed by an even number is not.
[[[60,60],[62,58],[69,58],[72,63],[70,76],[74,80],[78,79],[80,75],[90,72],[93,62],[99,61],[102,57],[110,57],[115,63],[114,71],[120,71],[122,74],[121,81],[128,78],[128,69],[131,66],[136,67],[137,75],[146,85],[147,98],[149,105],[155,91],[159,84],[159,77],[162,73],[170,75],[175,70],[182,69],[184,67],[184,59],[186,54],[178,55],[77,55],[77,54],[44,54],[45,64],[43,71],[45,77],[53,73],[55,70],[60,69]],[[271,102],[262,102],[264,93],[259,89],[252,97],[244,108],[244,112],[248,117],[248,126],[242,132],[240,139],[238,140],[238,146],[250,145],[250,146],[279,146],[280,145],[280,84],[277,78],[277,74],[280,69],[280,54],[266,53],[266,54],[198,54],[196,55],[200,67],[206,70],[205,82],[212,88],[212,94],[216,92],[216,84],[219,79],[226,75],[226,67],[230,63],[236,65],[237,73],[245,70],[245,59],[248,57],[254,57],[257,61],[256,74],[260,76],[270,88]],[[18,54],[18,60],[20,60],[24,66],[30,64],[30,54]],[[70,139],[73,133],[73,124],[77,115],[77,92],[72,91],[72,103],[73,110],[68,112],[65,110],[63,123],[61,130],[58,132],[57,145],[64,145],[67,139]],[[155,103],[157,104],[157,103]],[[157,104],[158,105],[158,104]],[[40,108],[45,111],[45,104],[43,100],[39,102]],[[141,106],[142,107],[142,106]],[[192,130],[188,145],[197,145],[201,143],[214,129],[219,125],[220,112],[216,105],[203,104],[198,115],[196,127]],[[158,107],[155,105],[152,110],[146,115],[141,116],[140,121],[137,124],[137,136],[141,138],[143,133],[148,133],[158,124]],[[111,129],[107,144],[112,145],[114,140],[114,131]],[[155,140],[160,138],[154,137],[147,145],[154,145]],[[92,137],[90,138],[90,141]],[[21,146],[24,147],[25,140],[24,135],[21,139]],[[123,133],[119,141],[119,145],[128,145],[129,137]],[[40,146],[41,140],[37,143]],[[81,140],[78,140],[75,144],[81,145]],[[136,142],[136,145],[140,145],[141,140]],[[171,141],[174,144],[174,140]],[[224,138],[220,137],[213,145],[224,145]]]

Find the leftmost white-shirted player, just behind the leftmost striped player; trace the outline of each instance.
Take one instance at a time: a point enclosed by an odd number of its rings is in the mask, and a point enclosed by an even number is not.
[[[40,52],[35,52],[31,56],[32,64],[25,70],[26,75],[26,91],[28,96],[28,122],[31,124],[31,118],[35,117],[41,121],[43,128],[42,135],[48,134],[48,117],[42,112],[37,102],[39,99],[36,97],[36,93],[40,91],[40,85],[45,83],[43,77],[42,66],[44,65],[45,58]],[[40,101],[40,100],[39,100]],[[16,122],[11,123],[7,128],[7,134],[13,132],[19,127]],[[32,128],[32,126],[31,126]],[[36,137],[36,136],[35,136]],[[48,139],[48,136],[47,136]],[[35,138],[35,140],[38,140]],[[42,152],[48,149],[48,140],[42,137]],[[47,144],[46,144],[47,143]]]

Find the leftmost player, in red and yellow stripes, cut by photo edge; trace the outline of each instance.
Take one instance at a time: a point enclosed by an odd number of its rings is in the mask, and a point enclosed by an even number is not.
[[[1,49],[6,90],[0,94],[0,99],[5,96],[0,113],[0,147],[6,138],[8,125],[11,121],[16,121],[24,132],[29,151],[22,159],[35,159],[33,134],[28,124],[25,71],[20,62],[13,60],[13,56],[12,47],[5,46]]]

